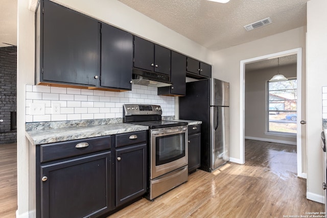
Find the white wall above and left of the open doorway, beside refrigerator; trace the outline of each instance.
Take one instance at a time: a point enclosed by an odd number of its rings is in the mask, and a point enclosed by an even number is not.
[[[255,30],[254,30],[255,31]],[[213,54],[213,77],[230,83],[230,157],[240,159],[240,61],[302,47],[305,53],[306,28],[301,27]],[[305,55],[302,54],[302,74],[305,74]],[[305,91],[302,89],[302,91]],[[305,156],[303,156],[305,158]]]

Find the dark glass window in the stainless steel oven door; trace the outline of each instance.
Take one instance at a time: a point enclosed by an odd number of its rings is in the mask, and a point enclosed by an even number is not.
[[[185,133],[156,137],[155,165],[178,160],[185,156]]]

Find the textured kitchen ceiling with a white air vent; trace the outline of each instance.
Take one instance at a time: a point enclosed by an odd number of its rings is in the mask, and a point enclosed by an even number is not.
[[[175,32],[217,51],[307,24],[308,0],[119,0]],[[270,25],[245,25],[270,17]]]

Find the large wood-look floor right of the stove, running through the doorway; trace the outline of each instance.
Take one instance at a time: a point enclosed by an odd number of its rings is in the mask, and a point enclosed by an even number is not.
[[[323,204],[306,199],[306,180],[296,177],[296,146],[246,140],[245,161],[214,173],[198,170],[153,202],[142,199],[108,217],[286,217],[323,211]]]

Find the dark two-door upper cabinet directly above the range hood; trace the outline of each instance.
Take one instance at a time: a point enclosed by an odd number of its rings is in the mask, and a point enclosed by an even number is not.
[[[170,75],[171,51],[134,36],[134,67]]]

